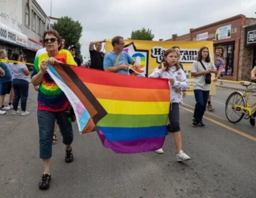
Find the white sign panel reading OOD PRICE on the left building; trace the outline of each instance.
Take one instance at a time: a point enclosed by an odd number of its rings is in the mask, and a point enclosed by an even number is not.
[[[11,43],[13,45],[18,45],[21,47],[28,47],[28,38],[21,32],[6,26],[4,23],[0,22],[0,40],[4,42]]]

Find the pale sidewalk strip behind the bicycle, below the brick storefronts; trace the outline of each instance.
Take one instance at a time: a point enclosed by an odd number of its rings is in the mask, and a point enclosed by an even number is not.
[[[245,86],[239,84],[239,81],[230,81],[230,80],[218,80],[216,83],[217,87],[237,89],[237,90],[246,90]],[[249,86],[249,92],[256,93],[256,85]]]

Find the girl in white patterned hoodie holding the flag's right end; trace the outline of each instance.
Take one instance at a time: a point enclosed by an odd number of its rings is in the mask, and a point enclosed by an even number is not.
[[[185,72],[179,67],[178,53],[174,49],[166,50],[161,65],[151,73],[151,78],[167,78],[170,85],[170,111],[169,120],[171,133],[177,149],[177,161],[190,160],[190,157],[182,151],[180,132],[179,103],[182,103],[182,90],[188,88],[189,83]],[[164,153],[163,149],[158,149],[157,153]]]

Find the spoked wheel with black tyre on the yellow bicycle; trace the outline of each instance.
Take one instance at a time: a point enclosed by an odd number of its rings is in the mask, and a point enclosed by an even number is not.
[[[241,107],[245,107],[246,101],[242,93],[234,92],[230,94],[226,101],[226,117],[232,123],[237,123],[244,117],[244,111]],[[236,105],[236,106],[235,106]]]

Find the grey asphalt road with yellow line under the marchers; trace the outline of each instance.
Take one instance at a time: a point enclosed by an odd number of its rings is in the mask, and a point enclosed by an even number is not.
[[[229,123],[224,107],[231,89],[218,88],[215,112],[206,113],[206,128],[191,127],[195,101],[187,96],[180,109],[183,150],[191,160],[175,159],[172,135],[164,154],[115,154],[97,134],[74,128],[74,162],[65,163],[64,146],[53,145],[51,186],[38,189],[36,92],[30,85],[30,115],[0,116],[0,197],[255,197],[256,128],[249,120]],[[256,99],[256,97],[255,97]]]

